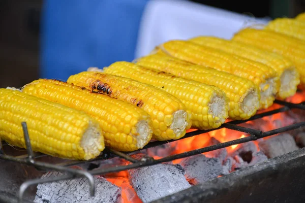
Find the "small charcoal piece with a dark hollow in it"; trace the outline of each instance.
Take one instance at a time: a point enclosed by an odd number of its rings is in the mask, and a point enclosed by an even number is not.
[[[262,152],[255,152],[248,154],[240,154],[234,156],[234,163],[232,164],[232,170],[238,170],[239,168],[245,168],[251,165],[268,160],[267,156]],[[250,160],[250,161],[249,161]]]

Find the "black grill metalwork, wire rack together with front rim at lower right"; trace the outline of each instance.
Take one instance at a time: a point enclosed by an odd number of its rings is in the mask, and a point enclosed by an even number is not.
[[[288,130],[293,130],[297,128],[301,128],[305,126],[305,122],[297,122],[285,127],[280,127],[277,129],[272,129],[269,131],[261,131],[248,127],[239,126],[241,123],[246,123],[248,121],[253,121],[256,119],[260,119],[266,116],[270,116],[273,114],[287,112],[292,109],[297,109],[298,112],[305,110],[305,102],[300,104],[293,104],[283,100],[276,100],[276,104],[281,105],[281,108],[275,110],[268,110],[263,113],[258,113],[255,116],[251,117],[248,120],[235,120],[229,121],[221,125],[217,129],[228,128],[232,130],[237,130],[245,133],[249,133],[250,136],[245,138],[240,138],[237,140],[232,140],[229,142],[224,142],[188,152],[182,152],[175,155],[166,156],[160,159],[154,159],[153,157],[140,158],[137,159],[131,154],[132,153],[123,153],[113,149],[105,149],[100,156],[95,159],[91,159],[89,161],[64,161],[60,163],[48,163],[46,161],[39,161],[38,159],[41,157],[47,157],[48,155],[36,153],[32,151],[31,141],[29,140],[28,131],[26,123],[22,123],[24,139],[27,147],[27,154],[23,155],[8,155],[6,153],[6,148],[8,148],[8,144],[5,142],[1,143],[0,146],[0,159],[5,161],[13,161],[18,164],[26,164],[31,165],[42,171],[59,171],[65,173],[63,176],[59,177],[50,177],[44,179],[32,179],[26,180],[20,185],[19,191],[11,191],[4,192],[1,191],[0,188],[0,202],[29,202],[28,199],[24,198],[25,191],[33,185],[37,185],[40,183],[47,182],[55,182],[60,180],[74,179],[78,177],[85,177],[89,183],[90,189],[87,191],[91,195],[95,195],[95,187],[94,187],[94,178],[93,175],[105,175],[108,173],[121,172],[125,170],[130,170],[133,168],[139,168],[143,166],[155,165],[159,163],[164,163],[180,158],[186,158],[193,155],[201,154],[204,152],[209,152],[217,149],[222,149],[228,146],[247,143],[250,141],[255,141],[264,137],[269,137],[278,133],[286,132]],[[190,138],[193,136],[197,136],[198,134],[202,134],[205,132],[209,132],[212,130],[196,130],[191,131],[186,134],[186,136],[181,139]],[[181,140],[180,139],[180,140]],[[167,144],[169,142],[175,142],[176,140],[170,141],[155,141],[147,144],[144,149],[153,148],[157,146],[161,146]],[[17,149],[16,149],[17,150]],[[137,152],[140,152],[138,150]],[[98,168],[96,170],[77,170],[70,166],[75,166],[83,163],[90,163],[99,160],[111,159],[113,157],[120,157],[129,161],[130,164],[127,165],[116,165],[113,167],[107,168]],[[278,199],[280,202],[289,202],[291,199],[295,200],[295,191],[304,191],[304,177],[302,177],[302,173],[305,170],[305,148],[301,148],[297,151],[285,154],[283,156],[269,159],[263,163],[254,165],[252,167],[243,168],[243,170],[235,171],[229,175],[225,175],[223,177],[217,178],[215,180],[209,181],[206,184],[198,184],[196,186],[192,186],[189,189],[186,189],[177,194],[172,194],[170,196],[164,197],[162,199],[157,200],[156,202],[202,202],[203,200],[207,202],[220,202],[222,200],[226,200],[226,202],[244,202],[245,200],[249,200],[250,202],[261,202],[266,200],[272,200],[272,195],[274,195],[273,200]],[[302,181],[302,182],[300,182]],[[251,184],[249,184],[251,183]],[[281,183],[281,184],[280,184]],[[272,189],[270,187],[279,187],[283,186],[288,191],[287,192],[270,192]],[[266,190],[269,189],[266,193]],[[243,195],[241,191],[245,192]],[[290,192],[290,193],[289,193]],[[248,196],[247,196],[248,195]],[[271,195],[271,196],[270,196]],[[234,198],[231,198],[234,196]],[[282,198],[283,197],[283,198]],[[304,193],[297,196],[297,200],[303,201],[305,199]],[[269,202],[269,201],[266,201]],[[295,202],[295,201],[294,201]]]

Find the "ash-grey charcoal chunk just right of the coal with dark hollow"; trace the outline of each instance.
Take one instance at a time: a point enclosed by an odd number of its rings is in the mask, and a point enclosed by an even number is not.
[[[268,158],[277,157],[298,149],[293,137],[288,133],[279,134],[276,137],[261,141],[258,145]]]

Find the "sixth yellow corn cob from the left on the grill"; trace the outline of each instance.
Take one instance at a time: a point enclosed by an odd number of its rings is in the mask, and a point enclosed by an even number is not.
[[[280,80],[277,73],[271,67],[262,63],[187,41],[169,41],[161,45],[160,48],[169,56],[209,66],[218,71],[224,71],[253,81],[260,89],[262,108],[271,106],[279,91]],[[268,84],[270,87],[264,91],[264,87]]]

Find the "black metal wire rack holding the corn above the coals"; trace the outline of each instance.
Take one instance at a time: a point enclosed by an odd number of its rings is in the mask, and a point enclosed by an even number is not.
[[[275,103],[279,104],[283,107],[276,109],[276,110],[271,110],[271,111],[267,111],[264,113],[256,114],[255,116],[251,117],[248,120],[230,121],[230,122],[222,124],[220,127],[216,128],[216,129],[196,130],[196,131],[188,132],[183,138],[180,138],[179,140],[185,139],[185,138],[190,138],[190,137],[196,136],[201,133],[206,133],[206,132],[221,129],[221,128],[228,128],[228,129],[232,129],[232,130],[246,132],[246,133],[250,134],[250,136],[248,136],[248,137],[240,138],[237,140],[232,140],[229,142],[224,142],[224,143],[220,143],[220,144],[216,144],[216,145],[212,145],[212,146],[208,146],[208,147],[204,147],[204,148],[200,148],[200,149],[196,149],[196,150],[192,150],[192,151],[188,151],[188,152],[183,152],[183,153],[179,153],[179,154],[175,154],[175,155],[171,155],[171,156],[166,156],[164,158],[157,159],[157,160],[155,160],[153,157],[148,157],[148,158],[144,158],[144,159],[143,158],[135,159],[132,156],[130,156],[131,153],[128,153],[128,152],[123,153],[123,152],[119,152],[119,151],[116,151],[113,149],[106,148],[101,155],[99,155],[98,157],[91,159],[89,161],[70,161],[70,162],[64,162],[64,163],[59,163],[59,164],[50,164],[50,163],[46,163],[46,162],[37,161],[36,160],[37,158],[42,157],[42,156],[47,156],[47,155],[33,152],[32,146],[31,146],[31,141],[29,140],[28,130],[27,130],[27,126],[26,126],[25,122],[22,122],[21,125],[23,128],[23,134],[24,134],[27,154],[21,155],[21,156],[6,155],[2,151],[2,145],[7,145],[7,144],[5,142],[0,142],[0,159],[19,162],[21,164],[33,165],[36,168],[41,168],[43,170],[60,171],[60,172],[66,173],[65,175],[60,176],[60,177],[33,179],[33,180],[25,181],[23,184],[21,184],[19,192],[18,192],[18,198],[19,198],[20,202],[22,201],[24,192],[31,185],[37,185],[40,183],[54,182],[54,181],[60,181],[60,180],[67,180],[67,179],[72,179],[72,178],[76,178],[76,177],[86,178],[88,180],[88,183],[90,186],[89,192],[91,195],[94,195],[95,194],[95,185],[94,185],[93,175],[105,175],[107,173],[115,173],[115,172],[130,170],[132,168],[149,166],[149,165],[154,165],[154,164],[163,163],[163,162],[169,162],[169,161],[173,161],[176,159],[185,158],[185,157],[193,156],[196,154],[201,154],[204,152],[209,152],[209,151],[229,147],[231,145],[246,143],[249,141],[255,141],[260,138],[272,136],[274,134],[278,134],[281,132],[285,132],[288,130],[292,130],[292,129],[296,129],[296,128],[305,126],[305,122],[298,122],[298,123],[294,123],[292,125],[288,125],[285,127],[263,132],[261,130],[242,127],[242,126],[238,125],[241,123],[246,123],[248,121],[263,118],[263,117],[277,114],[280,112],[285,112],[285,111],[288,111],[291,109],[305,110],[305,101],[300,104],[293,104],[293,103],[289,103],[287,101],[276,100]],[[148,143],[143,149],[153,148],[156,146],[164,145],[164,144],[167,144],[170,142],[175,142],[175,141],[176,140],[151,142],[151,143]],[[140,151],[140,150],[138,150],[138,151]],[[132,153],[134,153],[134,152],[132,152]],[[129,161],[130,164],[115,165],[113,167],[107,167],[107,168],[98,168],[93,171],[83,171],[83,170],[78,170],[78,169],[69,167],[69,166],[78,165],[78,164],[82,164],[82,163],[86,163],[86,162],[105,160],[105,159],[109,159],[109,158],[113,158],[113,157],[123,158],[123,159]]]

